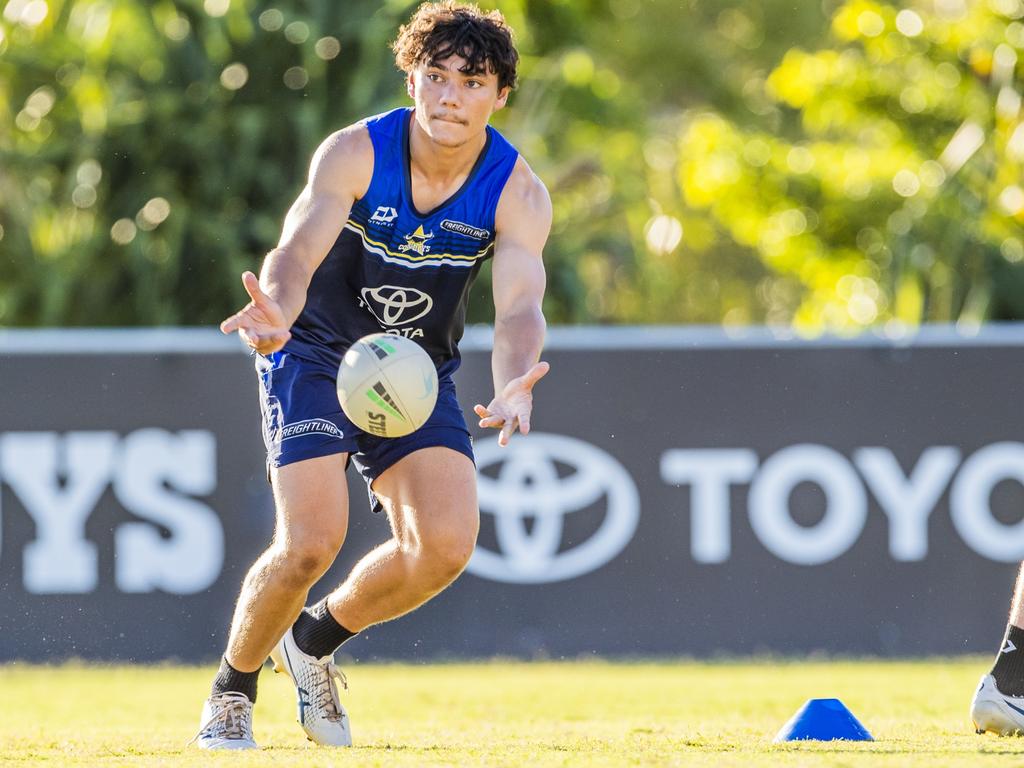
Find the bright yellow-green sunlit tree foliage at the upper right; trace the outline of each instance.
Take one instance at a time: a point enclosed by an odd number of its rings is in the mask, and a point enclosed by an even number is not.
[[[1024,316],[1020,0],[849,0],[831,45],[758,89],[764,126],[692,113],[684,210],[773,275],[769,322],[807,332]]]

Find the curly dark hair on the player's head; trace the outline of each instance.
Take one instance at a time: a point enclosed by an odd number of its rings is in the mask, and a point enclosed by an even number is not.
[[[494,73],[498,88],[516,86],[519,53],[512,41],[512,28],[500,10],[484,12],[471,3],[441,0],[423,3],[398,29],[391,44],[394,61],[410,73],[421,63],[435,63],[461,56],[466,75]]]

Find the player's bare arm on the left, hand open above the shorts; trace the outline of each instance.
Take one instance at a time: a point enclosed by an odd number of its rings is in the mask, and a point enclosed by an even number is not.
[[[238,331],[263,353],[285,345],[305,305],[313,272],[338,239],[352,204],[370,185],[373,162],[373,144],[362,125],[338,131],[321,144],[305,188],[285,218],[281,241],[263,260],[259,280],[252,272],[242,275],[251,301],[224,321],[221,331]]]

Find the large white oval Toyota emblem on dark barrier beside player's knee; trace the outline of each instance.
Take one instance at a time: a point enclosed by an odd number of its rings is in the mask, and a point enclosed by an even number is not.
[[[600,449],[531,432],[504,449],[478,443],[475,453],[480,511],[495,518],[498,551],[477,545],[467,566],[474,575],[513,584],[573,579],[610,561],[633,539],[640,496],[629,472]],[[490,476],[485,470],[495,465]],[[589,539],[563,547],[568,515],[602,511]]]

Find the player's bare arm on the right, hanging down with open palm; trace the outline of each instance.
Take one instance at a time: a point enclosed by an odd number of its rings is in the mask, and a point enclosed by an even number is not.
[[[490,370],[495,398],[474,411],[481,427],[501,427],[505,445],[518,427],[529,431],[534,385],[548,372],[538,362],[546,324],[542,253],[551,230],[551,199],[541,180],[520,159],[498,204],[495,222],[495,348]]]

